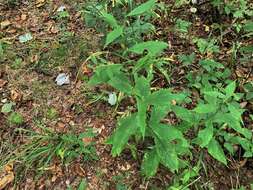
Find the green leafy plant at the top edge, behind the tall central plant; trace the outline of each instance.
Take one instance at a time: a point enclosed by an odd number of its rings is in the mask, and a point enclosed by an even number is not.
[[[101,25],[102,32],[106,33],[104,47],[111,43],[121,44],[122,47],[133,45],[142,41],[143,34],[154,31],[154,26],[148,20],[156,16],[156,0],[149,0],[135,8],[134,1],[116,1],[110,8],[108,5],[108,2],[92,3],[84,11],[86,24],[91,27]],[[108,13],[109,9],[112,13]]]

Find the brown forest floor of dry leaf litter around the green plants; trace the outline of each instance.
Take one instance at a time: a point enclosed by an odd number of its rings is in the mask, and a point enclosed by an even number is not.
[[[63,6],[67,16],[59,16],[57,12]],[[85,3],[59,0],[22,1],[14,7],[0,3],[0,107],[12,102],[12,109],[22,117],[17,126],[10,121],[9,113],[0,113],[0,160],[27,142],[27,134],[17,128],[40,131],[38,125],[51,129],[55,134],[79,135],[93,129],[96,136],[82,140],[94,143],[98,157],[98,160],[86,161],[76,157],[68,163],[55,157],[42,175],[39,168],[26,169],[18,162],[9,162],[0,171],[0,189],[77,189],[82,180],[88,189],[165,189],[174,180],[174,174],[165,168],[160,168],[156,177],[150,180],[142,178],[139,172],[141,160],[138,158],[141,151],[137,159],[133,159],[129,150],[119,157],[111,156],[110,146],[105,141],[115,129],[116,116],[120,113],[107,101],[110,88],[101,90],[86,86],[87,79],[92,76],[86,59],[102,47],[101,34],[84,24],[83,7]],[[188,8],[171,14],[189,18],[193,22],[192,33],[208,37],[211,26],[208,25],[210,18],[207,13],[201,13],[195,20]],[[229,24],[229,21],[225,22]],[[169,20],[168,23],[157,21],[157,26],[161,31],[157,38],[170,44],[167,54],[174,60],[171,83],[180,88],[184,85],[185,70],[178,66],[180,63],[174,55],[189,54],[195,49],[173,34],[170,30],[173,23]],[[32,39],[21,43],[19,37],[27,33],[32,35]],[[224,34],[223,38],[219,59],[227,60],[230,38],[233,37]],[[253,80],[252,65],[235,66],[233,72],[235,79]],[[70,76],[70,84],[56,84],[55,79],[60,73]],[[246,104],[252,113],[253,102]],[[123,109],[122,106],[119,109]],[[20,120],[20,117],[16,119]],[[252,121],[247,122],[253,129]],[[194,151],[198,152],[197,149]],[[192,189],[249,188],[253,182],[252,159],[231,158],[226,167],[204,154],[201,164],[205,169],[201,170]]]

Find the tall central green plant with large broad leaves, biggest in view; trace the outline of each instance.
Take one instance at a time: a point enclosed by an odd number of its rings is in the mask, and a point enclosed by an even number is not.
[[[143,5],[139,7],[143,7]],[[151,91],[153,67],[159,62],[158,56],[165,48],[167,48],[167,44],[159,41],[137,43],[124,53],[134,53],[141,56],[139,60],[131,61],[134,65],[131,73],[124,72],[122,64],[108,64],[98,66],[89,81],[90,85],[107,83],[135,99],[137,111],[119,119],[116,131],[108,143],[113,146],[112,155],[117,156],[127,145],[130,137],[135,137],[137,142],[153,139],[154,143],[148,148],[142,164],[142,173],[147,177],[156,173],[160,163],[171,171],[179,170],[185,166],[185,161],[180,157],[190,154],[189,143],[183,135],[185,131],[180,131],[176,126],[160,123],[167,113],[172,111],[173,102],[180,105],[187,95],[173,93],[171,89]],[[147,54],[143,56],[145,51]],[[140,75],[143,71],[146,76]]]

